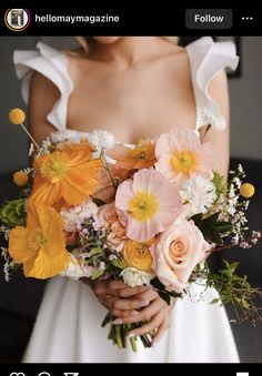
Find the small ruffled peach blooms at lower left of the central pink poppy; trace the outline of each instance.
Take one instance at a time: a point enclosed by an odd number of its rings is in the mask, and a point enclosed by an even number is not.
[[[122,251],[125,240],[125,228],[120,222],[114,203],[100,206],[98,219],[108,232],[108,242],[117,250]]]

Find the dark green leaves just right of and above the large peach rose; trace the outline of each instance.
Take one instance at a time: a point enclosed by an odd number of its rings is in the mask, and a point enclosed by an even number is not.
[[[219,222],[220,213],[214,213],[204,219],[203,214],[195,214],[191,217],[195,226],[200,228],[205,241],[223,245],[222,235],[232,232],[233,225],[229,222]]]

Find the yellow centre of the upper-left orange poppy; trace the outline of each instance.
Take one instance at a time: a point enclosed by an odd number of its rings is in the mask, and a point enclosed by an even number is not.
[[[54,152],[48,156],[47,161],[42,164],[41,174],[50,183],[57,183],[64,179],[69,170],[69,157],[66,153]]]

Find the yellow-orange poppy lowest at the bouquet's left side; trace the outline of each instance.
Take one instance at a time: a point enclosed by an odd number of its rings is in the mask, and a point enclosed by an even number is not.
[[[29,204],[27,227],[10,231],[9,254],[23,264],[27,277],[44,280],[64,271],[71,261],[66,250],[63,221],[54,209]]]

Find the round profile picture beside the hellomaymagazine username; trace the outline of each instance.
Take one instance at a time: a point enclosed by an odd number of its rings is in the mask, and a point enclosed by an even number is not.
[[[30,13],[27,9],[8,9],[4,14],[4,22],[12,31],[23,31],[30,23]]]

